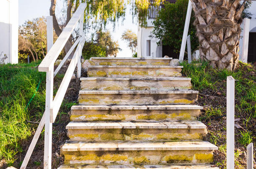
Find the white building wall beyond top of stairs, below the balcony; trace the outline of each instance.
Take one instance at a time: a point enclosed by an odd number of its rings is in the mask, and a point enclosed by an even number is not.
[[[149,35],[154,30],[154,25],[152,24],[153,19],[147,20],[147,27],[141,28],[138,26],[138,57],[154,57],[154,58],[162,58],[162,45],[157,45],[157,42],[159,42],[159,39],[157,38],[150,38]],[[150,56],[147,55],[147,40],[150,40]]]

